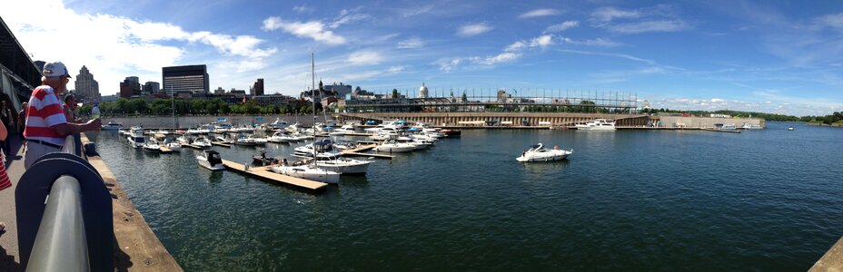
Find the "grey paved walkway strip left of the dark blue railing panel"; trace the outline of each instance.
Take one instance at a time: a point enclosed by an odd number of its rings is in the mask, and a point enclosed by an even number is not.
[[[15,189],[17,181],[24,174],[24,149],[20,135],[9,135],[14,156],[6,157],[6,170],[12,180],[12,188],[0,190],[0,222],[5,223],[5,233],[0,236],[0,271],[20,271],[20,257],[17,248],[17,217],[15,216]]]

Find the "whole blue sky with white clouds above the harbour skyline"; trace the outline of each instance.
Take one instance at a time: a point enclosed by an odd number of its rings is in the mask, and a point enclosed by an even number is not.
[[[425,83],[431,94],[843,111],[840,1],[4,2],[34,60],[72,75],[85,65],[103,95],[126,76],[160,83],[164,66],[207,64],[212,90],[263,78],[267,93],[297,96],[315,53],[317,80],[411,97]]]

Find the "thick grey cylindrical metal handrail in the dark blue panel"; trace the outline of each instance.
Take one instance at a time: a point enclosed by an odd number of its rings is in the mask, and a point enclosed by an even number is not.
[[[79,180],[55,180],[26,271],[90,271]]]

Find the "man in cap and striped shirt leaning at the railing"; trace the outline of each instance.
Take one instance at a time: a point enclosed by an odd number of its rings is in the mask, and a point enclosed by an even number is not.
[[[35,160],[47,153],[62,151],[67,135],[83,131],[99,131],[102,121],[94,119],[86,123],[70,123],[64,118],[64,106],[59,94],[67,91],[70,74],[64,63],[44,64],[41,86],[35,88],[29,98],[26,110],[26,151],[24,168],[29,169]]]

